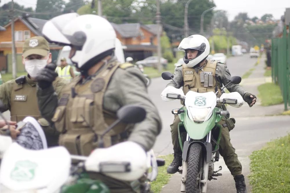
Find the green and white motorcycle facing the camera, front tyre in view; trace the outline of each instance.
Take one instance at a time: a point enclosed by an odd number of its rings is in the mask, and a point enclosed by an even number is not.
[[[173,79],[170,72],[163,72],[164,80]],[[229,83],[239,84],[241,77],[231,77]],[[206,193],[208,180],[216,180],[214,176],[222,170],[220,166],[214,171],[214,162],[219,161],[219,143],[222,125],[218,124],[230,114],[222,106],[225,104],[239,108],[243,105],[243,98],[238,92],[224,93],[218,98],[214,92],[198,93],[189,91],[184,96],[181,89],[168,86],[161,93],[164,101],[180,99],[184,101],[182,108],[173,109],[172,114],[180,118],[178,124],[178,138],[182,149],[182,174],[180,192]],[[177,84],[177,83],[176,83]],[[177,84],[178,85],[178,84]],[[220,106],[220,107],[217,107]]]

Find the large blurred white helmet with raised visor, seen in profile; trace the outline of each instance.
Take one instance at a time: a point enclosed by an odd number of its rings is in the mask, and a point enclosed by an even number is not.
[[[103,17],[77,13],[63,14],[44,24],[42,34],[50,43],[72,47],[71,61],[86,74],[88,69],[113,55],[116,33]]]

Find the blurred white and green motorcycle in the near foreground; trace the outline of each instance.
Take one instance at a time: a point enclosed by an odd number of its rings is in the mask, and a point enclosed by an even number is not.
[[[117,112],[117,121],[100,137],[100,146],[103,136],[116,124],[139,123],[145,117],[146,111],[141,107],[122,107]],[[0,159],[1,193],[110,193],[103,182],[90,179],[88,172],[140,183],[141,192],[149,193],[151,181],[157,177],[157,167],[165,164],[164,159],[155,158],[152,150],[145,153],[139,145],[129,141],[97,148],[86,157],[70,155],[61,146],[29,150],[13,142],[10,136],[0,136]],[[72,164],[72,160],[78,163]]]

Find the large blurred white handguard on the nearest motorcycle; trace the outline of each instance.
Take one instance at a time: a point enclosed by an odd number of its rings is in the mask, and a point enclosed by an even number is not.
[[[90,172],[100,172],[100,162],[129,162],[130,172],[104,173],[106,176],[122,181],[137,180],[148,169],[146,152],[139,144],[132,141],[118,143],[109,148],[95,149],[85,161],[85,168]]]

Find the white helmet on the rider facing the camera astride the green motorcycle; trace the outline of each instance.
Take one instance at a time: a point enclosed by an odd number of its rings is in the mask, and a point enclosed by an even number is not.
[[[178,49],[185,52],[183,61],[186,66],[189,68],[193,68],[194,66],[200,64],[206,59],[206,57],[209,55],[210,46],[209,41],[206,39],[206,37],[196,34],[184,38],[180,42]],[[198,54],[195,58],[188,59],[187,50],[198,50]]]

